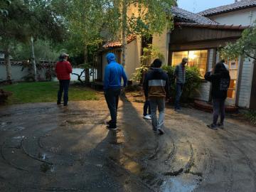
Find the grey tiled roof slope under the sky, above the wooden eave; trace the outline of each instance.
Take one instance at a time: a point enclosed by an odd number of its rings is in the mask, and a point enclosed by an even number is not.
[[[171,13],[174,14],[176,20],[181,20],[182,22],[217,24],[215,21],[210,20],[210,18],[206,18],[205,16],[201,16],[199,14],[193,14],[189,11],[178,8],[177,6],[173,6],[171,8]]]

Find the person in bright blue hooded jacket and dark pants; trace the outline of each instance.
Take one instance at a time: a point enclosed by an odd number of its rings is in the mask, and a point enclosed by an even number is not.
[[[124,87],[127,85],[127,75],[122,65],[116,62],[114,53],[107,54],[107,66],[105,67],[104,92],[107,107],[110,110],[111,120],[107,122],[108,129],[117,129],[117,107],[121,92],[121,80],[124,80]]]

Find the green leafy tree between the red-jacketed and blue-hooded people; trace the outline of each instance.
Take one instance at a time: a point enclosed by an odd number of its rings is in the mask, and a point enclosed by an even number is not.
[[[85,67],[85,82],[90,81],[89,55],[92,49],[97,50],[97,46],[102,43],[102,26],[105,21],[105,0],[55,0],[54,5],[63,16],[68,28],[68,38],[65,47],[73,55],[84,54],[84,61],[81,67]]]

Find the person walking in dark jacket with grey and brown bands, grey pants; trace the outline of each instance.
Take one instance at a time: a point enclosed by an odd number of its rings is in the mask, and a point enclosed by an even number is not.
[[[164,108],[165,99],[169,98],[169,78],[161,69],[161,60],[156,59],[153,62],[154,68],[151,68],[144,80],[144,94],[149,98],[151,107],[151,119],[153,131],[159,131],[164,134]],[[156,117],[156,109],[159,110],[159,118]]]

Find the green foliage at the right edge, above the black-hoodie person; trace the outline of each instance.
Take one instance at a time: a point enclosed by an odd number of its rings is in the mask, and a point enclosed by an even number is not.
[[[237,58],[239,55],[246,55],[256,60],[256,25],[242,32],[242,37],[235,43],[228,43],[220,51],[223,58]]]

